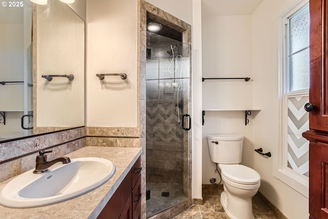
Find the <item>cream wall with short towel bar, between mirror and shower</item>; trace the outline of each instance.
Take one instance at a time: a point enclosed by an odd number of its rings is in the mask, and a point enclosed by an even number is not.
[[[137,126],[137,34],[136,0],[87,1],[87,126]]]

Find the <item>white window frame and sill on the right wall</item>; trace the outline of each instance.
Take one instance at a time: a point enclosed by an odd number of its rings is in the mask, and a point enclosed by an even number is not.
[[[309,0],[302,1],[279,17],[279,145],[278,156],[274,158],[273,175],[280,181],[309,198],[309,178],[288,168],[288,97],[309,95],[309,89],[290,91],[289,28],[286,19],[290,19],[297,12],[309,5]]]

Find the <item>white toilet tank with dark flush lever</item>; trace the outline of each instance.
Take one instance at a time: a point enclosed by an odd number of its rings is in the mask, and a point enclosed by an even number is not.
[[[218,164],[239,164],[242,155],[242,134],[208,135],[210,158]]]

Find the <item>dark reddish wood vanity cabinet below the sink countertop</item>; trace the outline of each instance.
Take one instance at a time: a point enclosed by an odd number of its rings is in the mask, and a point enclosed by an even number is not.
[[[119,185],[98,219],[140,219],[141,215],[140,157]]]

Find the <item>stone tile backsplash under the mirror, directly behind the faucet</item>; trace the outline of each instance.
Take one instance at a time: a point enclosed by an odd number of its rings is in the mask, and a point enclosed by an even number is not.
[[[53,160],[86,146],[86,128],[75,128],[0,144],[0,182],[35,168],[38,151]]]

